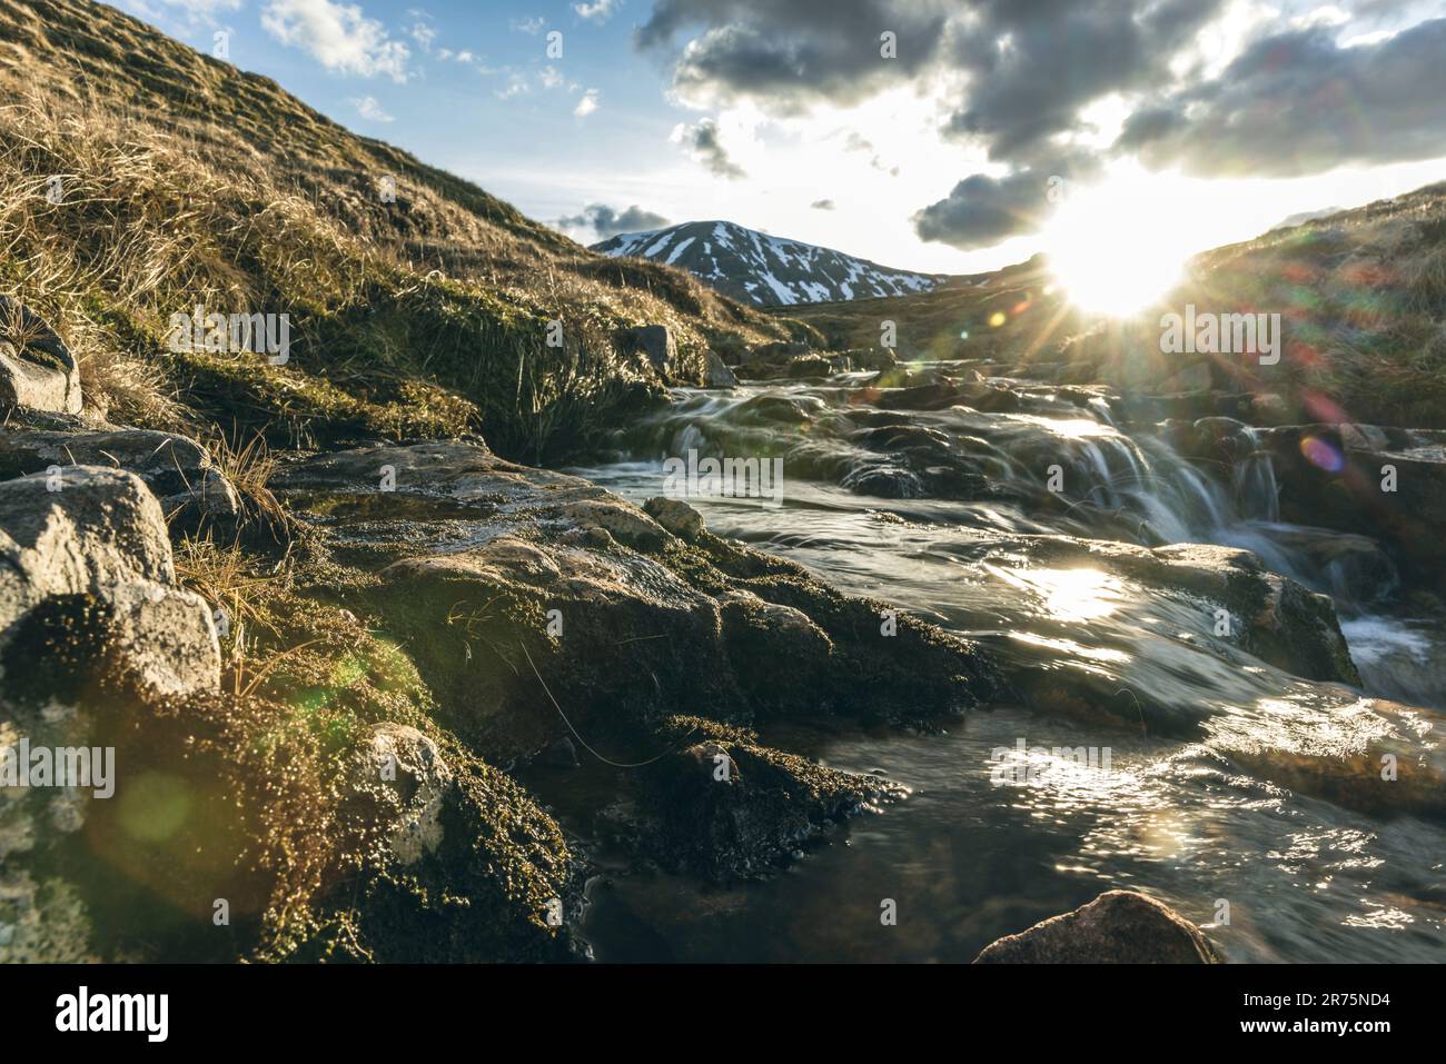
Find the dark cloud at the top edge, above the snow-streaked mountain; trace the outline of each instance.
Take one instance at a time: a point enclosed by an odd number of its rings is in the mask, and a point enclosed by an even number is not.
[[[636,43],[662,51],[697,30],[677,56],[675,90],[798,111],[855,103],[912,78],[937,55],[959,10],[949,0],[658,0]],[[894,59],[881,55],[884,32],[895,35]]]

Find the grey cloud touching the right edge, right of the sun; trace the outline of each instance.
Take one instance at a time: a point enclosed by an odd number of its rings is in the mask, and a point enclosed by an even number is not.
[[[1340,48],[1277,33],[1215,81],[1137,111],[1116,150],[1197,176],[1301,176],[1446,155],[1446,19]]]

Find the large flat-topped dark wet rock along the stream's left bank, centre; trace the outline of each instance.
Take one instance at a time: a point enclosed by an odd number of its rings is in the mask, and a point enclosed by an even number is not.
[[[393,492],[367,483],[382,467]],[[564,714],[632,762],[680,705],[739,723],[781,705],[912,720],[960,713],[998,682],[966,640],[907,616],[885,638],[885,604],[710,535],[685,503],[649,516],[474,444],[359,448],[276,481],[314,507],[315,535],[379,572],[364,606],[409,648],[438,720],[492,760],[565,734]],[[591,532],[619,538],[599,546]],[[788,655],[788,669],[759,665]]]

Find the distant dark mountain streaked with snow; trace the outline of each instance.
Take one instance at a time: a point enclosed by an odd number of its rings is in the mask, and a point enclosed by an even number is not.
[[[593,244],[593,250],[678,266],[720,292],[758,306],[927,292],[946,276],[894,270],[732,221],[685,221],[648,233],[619,233]]]

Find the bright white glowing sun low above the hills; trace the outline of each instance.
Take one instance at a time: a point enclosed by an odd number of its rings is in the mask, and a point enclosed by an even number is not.
[[[1045,227],[1050,272],[1080,309],[1132,317],[1174,288],[1196,250],[1180,213],[1167,182],[1148,175],[1084,188]]]

